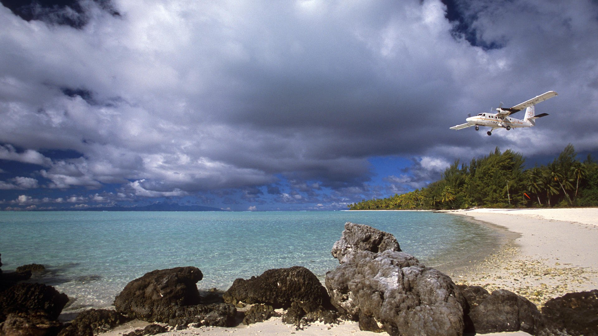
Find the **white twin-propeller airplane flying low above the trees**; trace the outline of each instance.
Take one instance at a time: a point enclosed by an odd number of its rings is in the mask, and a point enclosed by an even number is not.
[[[466,127],[475,126],[475,130],[479,130],[480,126],[486,126],[492,127],[492,130],[486,132],[487,135],[492,135],[492,131],[495,129],[502,128],[510,130],[518,127],[536,126],[536,119],[546,117],[548,114],[542,113],[535,115],[534,105],[536,105],[539,102],[544,102],[544,100],[550,99],[557,95],[558,93],[556,93],[555,91],[548,91],[530,100],[527,100],[526,102],[515,105],[512,108],[502,108],[501,103],[501,105],[496,109],[498,113],[480,113],[475,117],[471,117],[471,115],[469,115],[469,117],[465,119],[467,123],[450,127],[450,129],[460,130],[465,129]],[[525,118],[523,118],[523,120],[509,117],[509,115],[514,114],[515,112],[519,112],[522,109],[526,109]]]

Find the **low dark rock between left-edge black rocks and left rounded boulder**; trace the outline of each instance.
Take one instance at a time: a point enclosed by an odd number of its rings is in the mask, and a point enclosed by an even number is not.
[[[87,329],[93,334],[99,334],[129,320],[131,320],[129,317],[123,316],[115,310],[89,309],[78,314],[68,327],[59,333],[59,336],[80,335]]]

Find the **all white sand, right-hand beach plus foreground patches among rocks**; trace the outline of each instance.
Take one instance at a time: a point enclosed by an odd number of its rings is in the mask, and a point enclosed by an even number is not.
[[[474,262],[455,274],[455,283],[480,285],[492,292],[504,288],[541,306],[567,292],[598,288],[598,208],[579,209],[474,209],[457,210],[486,225],[498,225],[516,233],[496,253]],[[103,335],[117,336],[147,325],[133,321]],[[357,323],[314,323],[303,330],[283,324],[280,318],[234,328],[202,327],[170,331],[161,335],[375,335],[360,331]],[[382,335],[388,335],[382,333]],[[504,332],[486,335],[529,335]]]

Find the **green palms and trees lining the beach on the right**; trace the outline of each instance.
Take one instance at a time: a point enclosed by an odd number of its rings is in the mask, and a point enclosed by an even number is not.
[[[469,207],[598,206],[598,164],[577,160],[573,145],[547,166],[523,170],[524,158],[495,149],[469,165],[455,161],[426,188],[381,200],[349,204],[350,210],[466,209]]]

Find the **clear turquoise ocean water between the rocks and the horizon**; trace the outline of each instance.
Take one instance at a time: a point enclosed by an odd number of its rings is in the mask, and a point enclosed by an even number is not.
[[[65,310],[77,310],[109,307],[131,280],[162,268],[198,267],[200,289],[294,265],[324,279],[347,221],[394,234],[432,267],[497,239],[492,228],[433,212],[0,212],[0,253],[4,271],[45,265],[50,272],[32,281],[65,292],[74,299]]]

